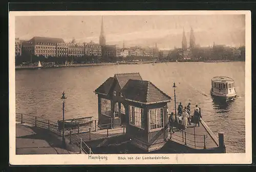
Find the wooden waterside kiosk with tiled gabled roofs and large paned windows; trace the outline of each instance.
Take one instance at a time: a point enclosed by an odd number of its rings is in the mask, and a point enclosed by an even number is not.
[[[139,73],[115,74],[95,90],[99,125],[126,125],[132,144],[147,152],[160,149],[168,138],[170,97]]]

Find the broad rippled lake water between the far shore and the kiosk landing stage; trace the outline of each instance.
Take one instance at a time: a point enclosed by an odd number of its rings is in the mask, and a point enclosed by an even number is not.
[[[245,152],[245,62],[174,62],[140,65],[113,65],[51,68],[16,71],[16,112],[57,121],[62,118],[62,91],[66,92],[65,118],[98,116],[97,95],[93,92],[115,73],[139,72],[174,100],[191,109],[199,104],[203,119],[212,132],[225,133],[227,153]],[[218,105],[209,96],[211,78],[218,75],[235,80],[238,98]],[[168,104],[174,112],[174,101]]]

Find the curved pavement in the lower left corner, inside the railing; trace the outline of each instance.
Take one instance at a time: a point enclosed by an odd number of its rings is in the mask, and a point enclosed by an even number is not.
[[[16,123],[16,155],[79,153],[67,138],[66,145],[62,148],[62,138],[47,129]]]

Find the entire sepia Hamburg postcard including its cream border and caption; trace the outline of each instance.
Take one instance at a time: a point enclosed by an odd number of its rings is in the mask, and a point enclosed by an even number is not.
[[[10,164],[250,164],[250,11],[10,11]]]

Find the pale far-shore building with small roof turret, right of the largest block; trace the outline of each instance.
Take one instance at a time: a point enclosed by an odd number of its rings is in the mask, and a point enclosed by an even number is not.
[[[82,57],[84,56],[84,45],[77,44],[75,39],[68,44],[68,56],[72,57]]]

